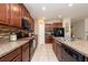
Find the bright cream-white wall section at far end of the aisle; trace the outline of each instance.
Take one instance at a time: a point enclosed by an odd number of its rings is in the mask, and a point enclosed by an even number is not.
[[[35,34],[38,35],[38,44],[45,44],[45,21],[42,19],[35,22]]]

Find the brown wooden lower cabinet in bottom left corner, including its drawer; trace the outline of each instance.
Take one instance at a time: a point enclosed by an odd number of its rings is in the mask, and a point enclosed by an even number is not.
[[[16,51],[2,56],[0,62],[21,62],[21,48],[17,48]]]

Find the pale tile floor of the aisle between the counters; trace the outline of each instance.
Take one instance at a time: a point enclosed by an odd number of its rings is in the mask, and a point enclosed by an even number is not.
[[[52,44],[38,45],[31,62],[58,62],[52,51]]]

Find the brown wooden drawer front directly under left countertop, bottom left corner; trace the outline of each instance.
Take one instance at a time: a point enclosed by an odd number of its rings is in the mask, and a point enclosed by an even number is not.
[[[21,54],[21,48],[17,48],[9,54],[2,56],[0,58],[0,62],[11,62],[18,54]]]

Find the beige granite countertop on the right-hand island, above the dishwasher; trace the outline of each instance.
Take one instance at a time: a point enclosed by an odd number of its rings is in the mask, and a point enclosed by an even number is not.
[[[88,41],[85,40],[76,40],[76,41],[65,41],[62,37],[53,37],[58,42],[61,42],[61,44],[65,44],[75,51],[79,52],[80,54],[85,55],[88,57]]]

